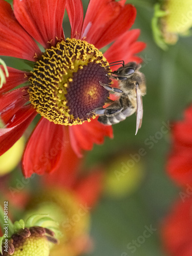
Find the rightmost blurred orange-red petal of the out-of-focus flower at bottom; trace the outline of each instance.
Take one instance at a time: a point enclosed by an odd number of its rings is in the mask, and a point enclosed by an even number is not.
[[[103,189],[103,177],[104,173],[95,169],[91,174],[77,181],[73,189],[83,205],[92,207],[96,204]]]

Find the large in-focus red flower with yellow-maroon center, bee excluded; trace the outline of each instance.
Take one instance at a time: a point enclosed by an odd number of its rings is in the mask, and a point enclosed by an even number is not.
[[[65,8],[75,39],[65,39],[62,30]],[[103,143],[104,136],[112,138],[111,126],[93,120],[92,115],[88,118],[87,113],[103,105],[109,95],[98,83],[102,79],[109,83],[108,62],[141,62],[135,56],[145,47],[136,41],[140,32],[127,31],[135,16],[135,8],[125,5],[125,0],[91,0],[84,20],[81,0],[14,0],[13,10],[0,0],[0,55],[33,61],[31,72],[8,67],[9,78],[0,89],[5,123],[0,129],[0,154],[22,136],[37,113],[42,116],[24,152],[25,177],[58,168],[66,143],[81,156],[81,150]],[[98,49],[113,41],[102,56]],[[9,92],[24,82],[28,85]]]

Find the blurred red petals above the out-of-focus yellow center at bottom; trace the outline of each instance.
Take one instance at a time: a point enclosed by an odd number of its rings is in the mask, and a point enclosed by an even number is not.
[[[81,203],[93,207],[103,190],[103,168],[101,166],[89,170],[82,168],[82,160],[75,155],[70,144],[67,146],[65,156],[55,172],[41,177],[42,187],[73,191]]]

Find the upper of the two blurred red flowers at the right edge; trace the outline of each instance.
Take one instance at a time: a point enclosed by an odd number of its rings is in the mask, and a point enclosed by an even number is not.
[[[192,106],[184,120],[172,129],[173,146],[167,162],[167,172],[179,185],[192,185]]]

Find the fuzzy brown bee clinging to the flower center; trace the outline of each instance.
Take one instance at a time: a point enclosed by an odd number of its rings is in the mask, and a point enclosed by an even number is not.
[[[129,62],[118,70],[113,71],[110,78],[118,80],[119,88],[112,88],[108,84],[101,84],[106,90],[120,93],[118,100],[111,101],[112,104],[104,108],[97,108],[92,113],[99,116],[98,121],[105,125],[119,123],[126,117],[137,113],[136,133],[141,127],[143,118],[142,96],[146,94],[145,76],[139,71],[140,64]],[[114,62],[113,62],[114,63]],[[115,64],[116,65],[116,64]]]

